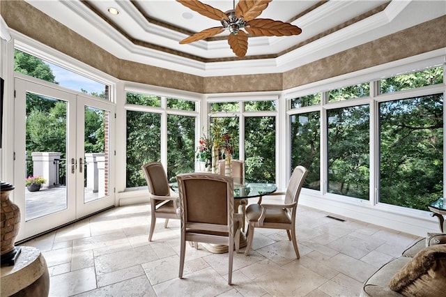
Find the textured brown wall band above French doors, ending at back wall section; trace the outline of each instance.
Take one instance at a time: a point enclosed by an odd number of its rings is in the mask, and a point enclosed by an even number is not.
[[[203,93],[203,77],[118,59],[25,1],[0,1],[6,24],[118,79]]]

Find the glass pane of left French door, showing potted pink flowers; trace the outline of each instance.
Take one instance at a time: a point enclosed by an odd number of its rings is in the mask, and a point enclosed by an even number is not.
[[[26,93],[26,221],[67,208],[66,129],[67,103]],[[45,182],[31,188],[36,177]],[[43,179],[42,179],[43,178]],[[28,187],[29,185],[29,187]]]

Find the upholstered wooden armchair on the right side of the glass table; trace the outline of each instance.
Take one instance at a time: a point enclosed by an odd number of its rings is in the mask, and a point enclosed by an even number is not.
[[[300,258],[298,241],[295,236],[295,215],[298,208],[300,190],[307,173],[308,171],[305,167],[295,167],[286,192],[274,192],[271,194],[285,195],[283,204],[263,204],[260,198],[257,204],[251,204],[246,208],[248,243],[245,254],[248,254],[251,249],[255,228],[285,229],[289,240],[293,241],[296,257]]]

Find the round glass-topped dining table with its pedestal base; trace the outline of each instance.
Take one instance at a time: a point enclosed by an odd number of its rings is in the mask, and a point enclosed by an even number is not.
[[[249,198],[256,198],[271,195],[277,191],[277,185],[275,183],[261,182],[261,181],[249,181],[243,180],[238,177],[233,178],[234,181],[234,211],[241,213],[247,206]],[[178,192],[178,184],[170,183],[171,189],[174,192]],[[228,252],[226,245],[214,245],[210,243],[201,243],[206,250],[215,254],[221,254]],[[244,248],[247,245],[247,238],[243,232],[240,232],[240,248]]]

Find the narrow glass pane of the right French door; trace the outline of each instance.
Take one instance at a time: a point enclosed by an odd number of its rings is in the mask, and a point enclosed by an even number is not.
[[[109,112],[84,110],[84,202],[109,195]]]

